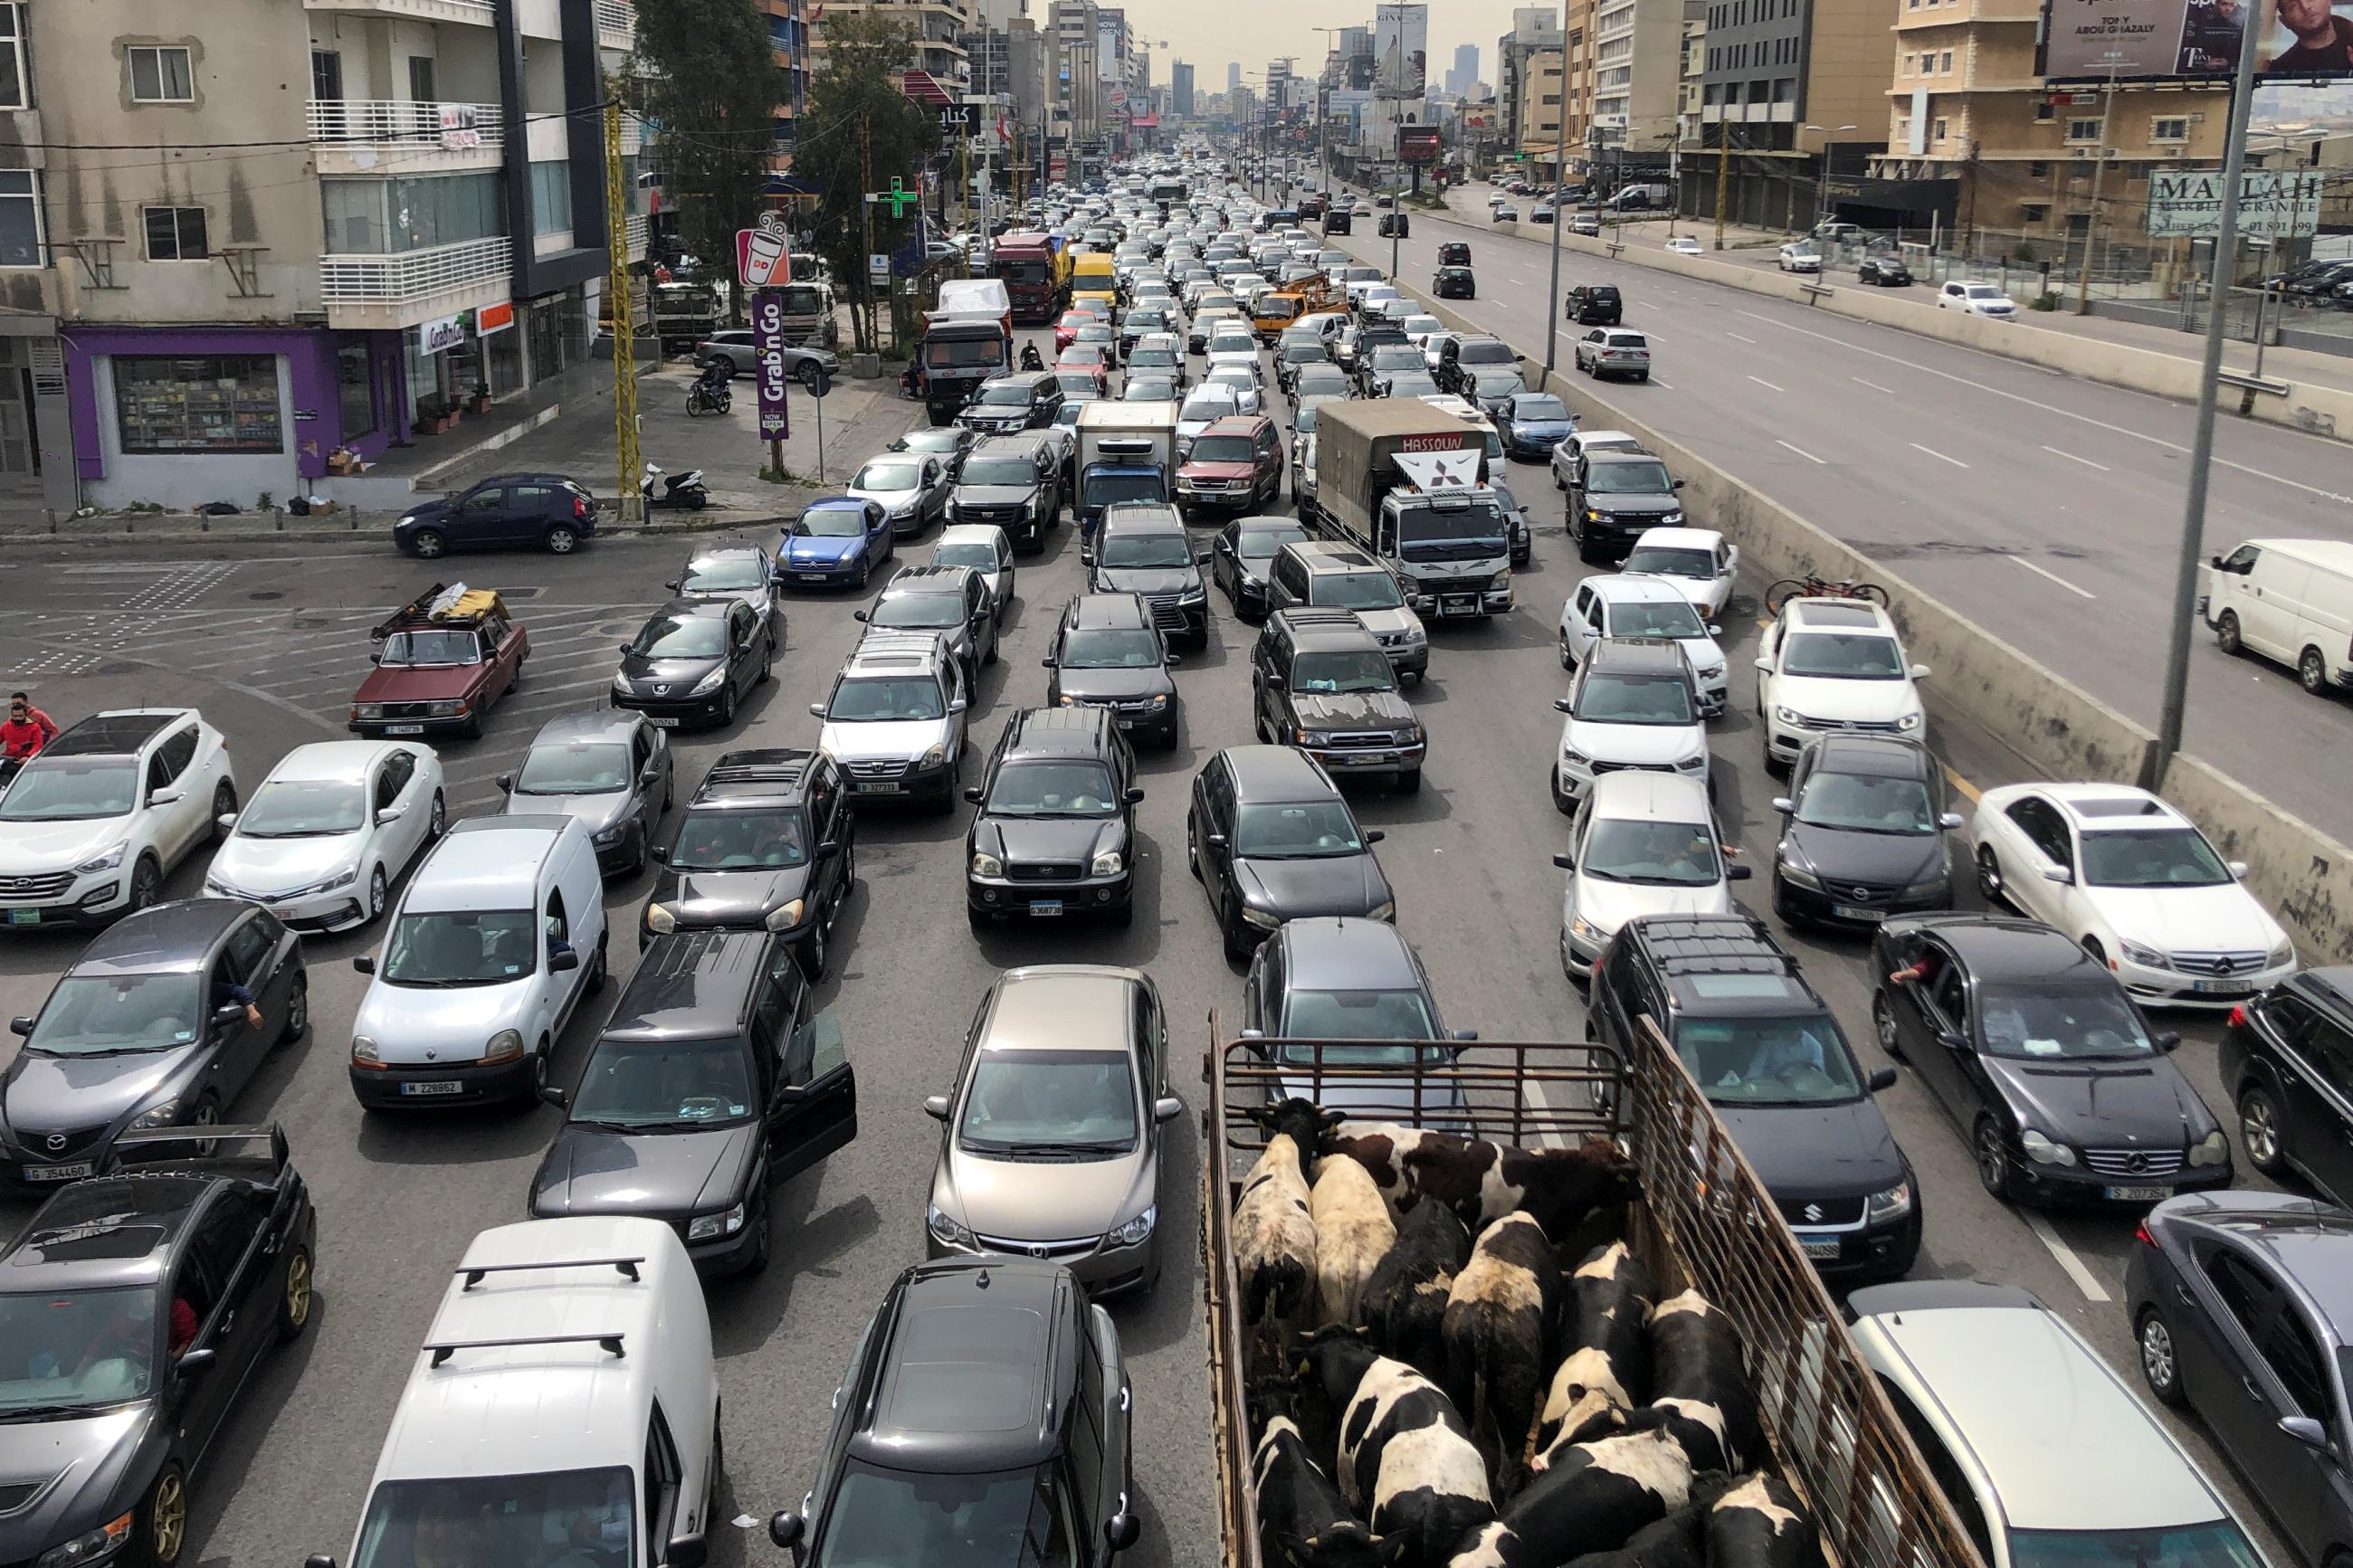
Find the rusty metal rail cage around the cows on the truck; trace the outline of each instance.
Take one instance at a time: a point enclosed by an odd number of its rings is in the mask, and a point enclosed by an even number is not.
[[[1200,1201],[1224,1568],[1282,1568],[1261,1552],[1245,1406],[1252,1378],[1273,1368],[1257,1363],[1261,1335],[1242,1321],[1231,1218],[1266,1145],[1245,1110],[1287,1095],[1337,1110],[1379,1105],[1360,1114],[1518,1147],[1595,1133],[1619,1140],[1642,1187],[1619,1234],[1659,1300],[1694,1288],[1739,1328],[1774,1469],[1812,1509],[1833,1568],[1979,1568],[1765,1180],[1647,1018],[1624,1056],[1598,1044],[1482,1041],[1447,1060],[1362,1058],[1362,1044],[1344,1039],[1226,1041],[1209,1018]]]

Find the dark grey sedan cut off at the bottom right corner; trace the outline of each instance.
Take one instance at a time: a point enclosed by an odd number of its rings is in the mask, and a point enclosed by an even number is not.
[[[2297,1561],[2353,1540],[2353,1213],[2287,1192],[2158,1204],[2125,1262],[2148,1392],[2198,1410]],[[2334,1554],[2334,1556],[2332,1556]]]

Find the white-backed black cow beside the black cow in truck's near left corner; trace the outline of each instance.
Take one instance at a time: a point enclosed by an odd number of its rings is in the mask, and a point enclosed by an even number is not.
[[[1466,1533],[1494,1519],[1487,1465],[1445,1392],[1348,1326],[1318,1328],[1306,1371],[1341,1408],[1339,1490],[1400,1563],[1440,1568]]]

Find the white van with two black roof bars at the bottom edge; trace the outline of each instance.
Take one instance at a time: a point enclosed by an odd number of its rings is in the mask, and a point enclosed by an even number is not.
[[[499,1225],[442,1291],[351,1568],[699,1568],[718,1474],[711,1314],[678,1232],[616,1215]]]

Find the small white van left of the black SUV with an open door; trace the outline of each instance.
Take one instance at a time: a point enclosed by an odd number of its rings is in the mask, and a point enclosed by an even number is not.
[[[369,1110],[529,1100],[581,997],[605,987],[605,879],[576,816],[454,823],[416,867],[351,1023]]]

